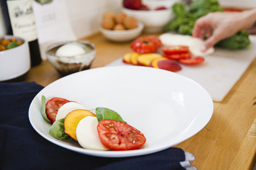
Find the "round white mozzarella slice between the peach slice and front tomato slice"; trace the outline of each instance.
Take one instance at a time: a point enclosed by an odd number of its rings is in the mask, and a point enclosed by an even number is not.
[[[80,120],[76,129],[78,143],[85,149],[108,150],[102,145],[97,133],[97,118],[87,116]]]

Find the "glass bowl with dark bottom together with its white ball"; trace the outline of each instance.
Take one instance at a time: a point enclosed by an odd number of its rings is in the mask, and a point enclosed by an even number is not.
[[[85,40],[56,42],[46,48],[46,57],[60,76],[90,69],[95,45]]]

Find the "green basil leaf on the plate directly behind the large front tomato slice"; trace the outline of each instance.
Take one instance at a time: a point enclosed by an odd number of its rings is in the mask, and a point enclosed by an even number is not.
[[[115,111],[112,111],[110,108],[96,108],[96,117],[98,122],[100,122],[100,120],[107,119],[107,120],[118,120],[118,121],[127,123],[121,118],[121,115],[119,115]]]

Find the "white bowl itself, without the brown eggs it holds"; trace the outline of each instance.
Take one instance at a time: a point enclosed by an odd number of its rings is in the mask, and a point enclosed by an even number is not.
[[[144,24],[138,21],[138,27],[131,30],[106,30],[100,27],[100,31],[108,40],[112,40],[114,42],[126,42],[134,40],[141,35],[143,28]]]

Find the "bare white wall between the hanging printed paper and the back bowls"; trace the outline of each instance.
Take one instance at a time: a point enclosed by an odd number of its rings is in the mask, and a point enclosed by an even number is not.
[[[106,11],[121,11],[122,0],[65,0],[70,23],[78,38],[99,30],[102,15]]]

